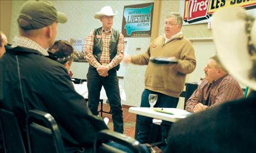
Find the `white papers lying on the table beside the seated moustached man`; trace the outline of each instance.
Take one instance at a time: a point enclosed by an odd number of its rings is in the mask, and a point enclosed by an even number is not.
[[[190,115],[191,113],[178,108],[153,108],[154,111],[171,115]]]

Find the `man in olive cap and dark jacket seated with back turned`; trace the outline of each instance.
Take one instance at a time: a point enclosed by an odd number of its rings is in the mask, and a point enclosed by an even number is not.
[[[14,112],[25,143],[26,113],[39,109],[57,121],[66,152],[90,149],[96,133],[108,127],[76,93],[67,69],[45,57],[66,15],[49,1],[27,1],[17,22],[20,34],[1,58],[1,108]]]

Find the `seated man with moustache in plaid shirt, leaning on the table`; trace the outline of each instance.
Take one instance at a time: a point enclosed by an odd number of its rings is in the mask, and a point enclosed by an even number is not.
[[[204,71],[205,79],[186,103],[188,112],[197,113],[243,96],[239,83],[223,68],[216,55],[209,59]]]

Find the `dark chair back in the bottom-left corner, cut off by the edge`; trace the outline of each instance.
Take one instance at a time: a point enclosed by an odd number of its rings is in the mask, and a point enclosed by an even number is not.
[[[14,113],[1,108],[0,116],[4,151],[26,153],[20,127]]]

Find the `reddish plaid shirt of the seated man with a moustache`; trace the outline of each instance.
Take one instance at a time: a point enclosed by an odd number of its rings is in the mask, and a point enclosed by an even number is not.
[[[230,75],[225,75],[210,84],[205,79],[198,85],[197,90],[190,96],[186,103],[186,110],[193,112],[199,102],[209,107],[214,107],[223,102],[240,99],[243,91],[239,83]]]

